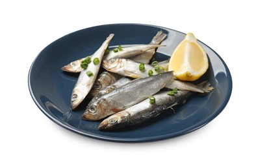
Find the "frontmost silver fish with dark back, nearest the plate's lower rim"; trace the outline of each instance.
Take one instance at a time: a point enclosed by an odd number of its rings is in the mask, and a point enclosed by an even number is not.
[[[200,87],[208,88],[209,82],[203,81],[199,84]],[[168,95],[170,91],[159,92],[153,97],[155,103],[149,103],[149,100],[141,101],[125,110],[117,112],[101,121],[98,126],[100,131],[108,131],[115,129],[123,129],[134,125],[139,125],[147,120],[151,120],[159,116],[164,110],[172,108],[175,105],[184,103],[191,98],[196,92],[177,90],[173,96]]]

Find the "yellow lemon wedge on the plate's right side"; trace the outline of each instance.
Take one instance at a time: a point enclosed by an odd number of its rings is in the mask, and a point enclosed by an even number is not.
[[[209,67],[207,53],[192,33],[175,48],[169,62],[168,70],[173,70],[177,79],[195,81],[205,74]]]

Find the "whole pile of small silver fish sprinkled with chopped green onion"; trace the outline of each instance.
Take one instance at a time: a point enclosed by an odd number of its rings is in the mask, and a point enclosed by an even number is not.
[[[155,50],[164,47],[160,43],[166,36],[159,31],[147,45],[109,50],[114,37],[110,34],[92,56],[62,67],[66,72],[80,72],[71,94],[71,109],[77,108],[84,98],[92,98],[81,118],[105,118],[98,127],[105,131],[143,123],[196,92],[210,92],[213,87],[207,81],[194,85],[175,79],[173,72],[167,70],[169,59],[149,64]],[[86,66],[82,68],[84,61]],[[104,69],[101,74],[100,69]]]

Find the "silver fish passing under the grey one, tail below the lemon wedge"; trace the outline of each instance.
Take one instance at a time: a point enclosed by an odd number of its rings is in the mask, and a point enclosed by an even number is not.
[[[149,64],[144,64],[145,70],[140,70],[140,63],[133,61],[131,59],[125,58],[113,58],[109,61],[104,60],[102,63],[102,67],[108,70],[109,72],[114,72],[116,74],[120,74],[122,76],[128,76],[131,78],[146,78],[148,75],[148,71],[152,70],[153,75],[165,72],[165,70],[155,70],[155,67]],[[168,89],[179,89],[179,90],[190,90],[193,92],[209,92],[205,90],[203,87],[199,87],[198,85],[194,85],[192,83],[188,83],[185,81],[180,81],[178,79],[173,78],[168,81],[165,85]]]

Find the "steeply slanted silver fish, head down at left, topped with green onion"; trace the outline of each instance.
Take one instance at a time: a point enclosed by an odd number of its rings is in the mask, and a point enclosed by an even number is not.
[[[90,92],[90,90],[92,89],[92,86],[96,81],[99,68],[101,67],[101,61],[103,59],[104,52],[109,46],[109,43],[113,36],[114,34],[110,34],[109,37],[107,37],[107,39],[102,43],[101,47],[99,47],[99,49],[97,49],[97,51],[92,55],[92,61],[94,60],[94,58],[98,58],[99,63],[97,65],[94,65],[94,63],[91,62],[88,64],[88,68],[86,68],[86,70],[81,71],[71,94],[72,110],[75,109],[84,100],[88,92]],[[86,74],[86,72],[88,72],[89,70],[93,73],[93,76],[89,77]]]

